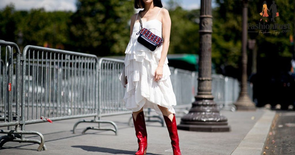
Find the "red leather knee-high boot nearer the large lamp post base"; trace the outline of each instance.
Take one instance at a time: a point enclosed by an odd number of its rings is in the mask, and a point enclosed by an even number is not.
[[[169,132],[170,139],[171,139],[173,155],[181,155],[181,152],[179,149],[179,138],[177,133],[177,124],[176,124],[175,114],[173,114],[172,122],[167,116],[165,115],[163,116],[164,116],[164,120]]]

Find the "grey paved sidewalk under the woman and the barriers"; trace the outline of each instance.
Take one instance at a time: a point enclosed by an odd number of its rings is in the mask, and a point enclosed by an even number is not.
[[[178,130],[181,152],[183,155],[229,155],[235,151],[266,111],[268,110],[265,108],[258,108],[255,112],[222,110],[222,115],[228,118],[230,132],[211,133]],[[82,135],[82,130],[95,125],[93,123],[81,123],[78,125],[76,134],[73,134],[71,132],[73,125],[79,119],[56,121],[53,124],[27,125],[26,130],[37,130],[44,135],[47,151],[36,151],[37,144],[8,142],[4,145],[5,149],[0,150],[0,154],[135,154],[138,145],[135,129],[133,126],[128,126],[130,117],[131,113],[103,117],[104,120],[113,120],[117,123],[119,128],[117,136],[112,131],[96,130],[88,130],[86,134]],[[176,121],[179,124],[180,117],[177,117]],[[146,125],[148,130],[147,154],[173,154],[167,128],[157,122],[147,122]],[[38,138],[30,135],[26,137]]]

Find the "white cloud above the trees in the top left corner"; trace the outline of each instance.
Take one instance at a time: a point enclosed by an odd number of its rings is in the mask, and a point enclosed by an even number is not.
[[[76,0],[1,0],[0,8],[13,3],[17,10],[44,8],[46,11],[76,11]]]

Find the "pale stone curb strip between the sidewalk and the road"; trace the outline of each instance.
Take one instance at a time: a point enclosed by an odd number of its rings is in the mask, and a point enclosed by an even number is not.
[[[235,148],[231,155],[261,155],[264,143],[271,128],[275,111],[263,110],[261,118],[255,123],[253,128],[247,133],[245,138]]]

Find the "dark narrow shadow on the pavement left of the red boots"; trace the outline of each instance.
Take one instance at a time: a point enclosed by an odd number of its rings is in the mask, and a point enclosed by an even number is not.
[[[127,150],[118,150],[118,149],[110,149],[104,147],[97,147],[97,146],[84,146],[84,145],[75,145],[72,146],[74,148],[81,148],[85,151],[91,152],[103,152],[103,153],[110,153],[110,154],[135,154],[135,151],[127,151]],[[153,153],[146,153],[147,155],[160,155],[160,154],[153,154]]]

